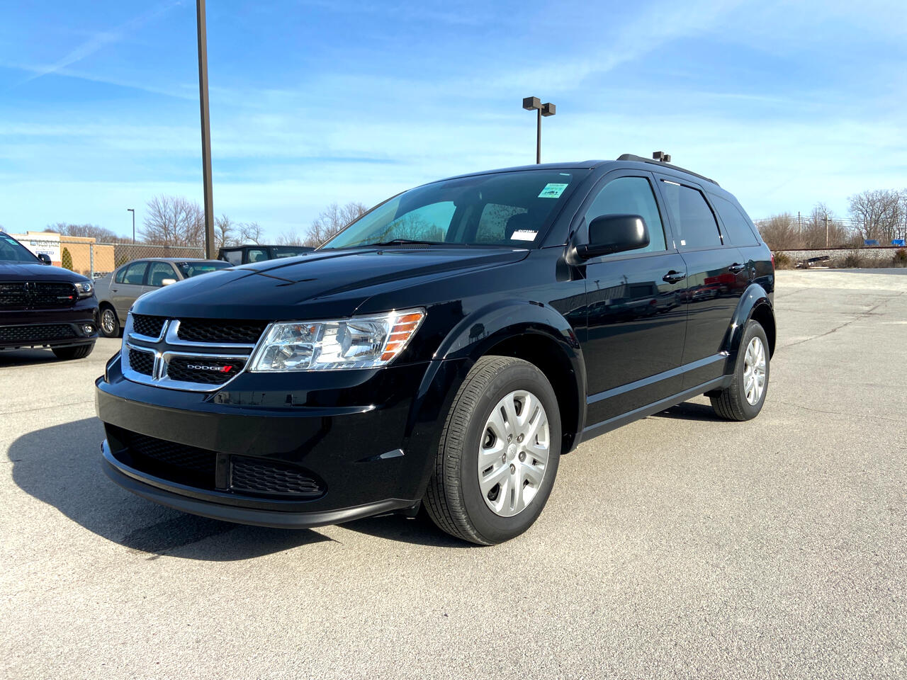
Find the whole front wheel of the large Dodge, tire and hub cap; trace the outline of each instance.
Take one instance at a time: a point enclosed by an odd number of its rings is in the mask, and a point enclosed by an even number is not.
[[[447,414],[425,508],[460,539],[512,539],[541,514],[560,458],[561,416],[548,379],[522,359],[483,356]]]

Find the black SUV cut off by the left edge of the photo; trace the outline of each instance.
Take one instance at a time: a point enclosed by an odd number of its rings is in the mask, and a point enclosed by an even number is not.
[[[81,359],[98,337],[93,284],[48,265],[50,257],[0,232],[0,350],[49,347],[61,359]]]

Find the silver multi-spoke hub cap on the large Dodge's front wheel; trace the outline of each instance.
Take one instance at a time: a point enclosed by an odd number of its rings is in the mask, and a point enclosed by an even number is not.
[[[495,514],[512,517],[532,504],[551,452],[548,415],[525,390],[507,394],[492,409],[479,444],[479,489]]]

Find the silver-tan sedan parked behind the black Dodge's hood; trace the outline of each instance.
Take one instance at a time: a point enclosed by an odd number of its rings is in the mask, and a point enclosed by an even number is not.
[[[117,337],[132,303],[139,296],[184,278],[208,274],[233,265],[219,259],[144,257],[127,262],[95,282],[101,313],[101,335]]]

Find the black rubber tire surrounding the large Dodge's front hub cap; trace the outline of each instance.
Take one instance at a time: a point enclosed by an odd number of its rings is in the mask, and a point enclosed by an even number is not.
[[[550,449],[532,500],[517,514],[503,517],[486,505],[479,487],[479,447],[495,405],[518,390],[532,393],[541,402],[548,416]],[[425,509],[440,529],[457,538],[480,545],[512,539],[529,529],[541,514],[551,495],[560,458],[561,414],[548,379],[522,359],[483,356],[466,376],[447,413],[434,474],[425,493]]]

